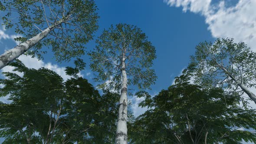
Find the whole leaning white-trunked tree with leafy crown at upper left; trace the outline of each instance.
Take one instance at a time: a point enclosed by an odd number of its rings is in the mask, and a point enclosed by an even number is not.
[[[52,49],[58,62],[83,55],[84,44],[98,29],[96,9],[93,0],[1,0],[3,25],[24,37],[0,56],[0,69],[24,52],[42,58],[43,46]]]

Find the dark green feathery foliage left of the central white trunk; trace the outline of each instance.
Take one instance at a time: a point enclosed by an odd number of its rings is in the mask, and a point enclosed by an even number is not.
[[[28,69],[19,60],[14,71],[4,72],[0,97],[9,95],[10,104],[0,102],[0,137],[3,144],[104,144],[115,141],[119,95],[98,91],[77,73],[84,63],[68,67],[72,78],[63,79],[46,68]]]

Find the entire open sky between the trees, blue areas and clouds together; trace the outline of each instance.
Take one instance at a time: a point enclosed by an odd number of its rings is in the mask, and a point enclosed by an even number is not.
[[[181,73],[190,62],[195,46],[203,41],[214,41],[218,37],[234,38],[236,42],[245,42],[256,51],[256,0],[95,0],[98,6],[99,29],[95,39],[111,24],[128,23],[136,25],[148,36],[156,47],[157,59],[154,60],[155,85],[149,92],[158,94],[170,86],[174,77]],[[252,15],[254,14],[254,15]],[[0,53],[16,46],[12,40],[15,33],[0,28]],[[91,50],[94,41],[87,44]],[[30,67],[46,66],[57,71],[64,78],[63,69],[72,66],[71,62],[57,63],[52,54],[44,56],[43,61],[32,58],[20,58]],[[93,72],[89,69],[89,57],[82,56],[87,67],[81,75],[93,82]],[[7,67],[2,70],[10,71]],[[135,116],[145,109],[138,108],[141,98],[130,98]],[[0,99],[6,101],[6,98]]]

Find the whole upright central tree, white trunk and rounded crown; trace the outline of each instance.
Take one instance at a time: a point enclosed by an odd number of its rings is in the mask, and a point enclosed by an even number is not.
[[[127,144],[127,85],[149,88],[156,76],[150,69],[156,58],[154,46],[141,29],[128,24],[117,24],[104,30],[96,40],[97,46],[89,53],[95,78],[112,91],[121,91],[116,130],[116,144]],[[108,81],[108,82],[107,82]]]

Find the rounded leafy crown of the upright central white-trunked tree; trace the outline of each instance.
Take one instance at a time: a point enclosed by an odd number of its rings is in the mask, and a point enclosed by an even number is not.
[[[149,88],[154,83],[156,76],[150,67],[156,58],[155,48],[137,26],[122,23],[112,25],[103,31],[96,43],[97,46],[89,55],[92,70],[99,73],[97,81],[105,82],[112,77],[110,85],[120,84],[118,74],[125,70],[132,78],[129,81],[132,85]]]

